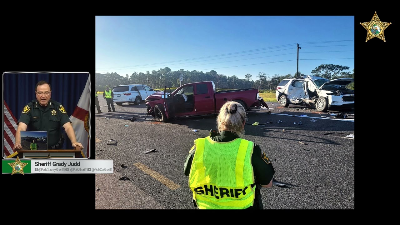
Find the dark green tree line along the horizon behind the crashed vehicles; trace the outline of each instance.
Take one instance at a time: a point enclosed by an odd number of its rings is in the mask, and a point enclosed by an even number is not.
[[[354,78],[353,73],[344,72],[348,70],[347,66],[340,66],[334,64],[321,64],[311,71],[310,75],[320,76],[327,78],[329,80],[349,77]],[[134,72],[131,75],[126,74],[121,76],[116,72],[106,74],[96,73],[96,89],[98,91],[104,91],[106,86],[111,89],[114,86],[123,84],[145,84],[151,88],[159,89],[165,86],[179,87],[180,85],[180,74],[183,74],[182,84],[192,83],[192,82],[202,82],[202,81],[214,81],[216,88],[218,89],[243,89],[243,88],[258,88],[258,89],[275,89],[278,84],[286,78],[294,78],[297,76],[304,76],[301,72],[295,72],[294,75],[286,74],[274,74],[270,76],[265,72],[259,72],[258,74],[246,74],[244,79],[238,78],[236,75],[226,76],[224,74],[219,74],[215,70],[210,72],[196,71],[196,70],[176,70],[172,71],[170,68],[160,68],[159,70],[152,70],[143,72]],[[255,78],[254,80],[252,78]],[[349,86],[349,88],[354,89],[354,82]]]

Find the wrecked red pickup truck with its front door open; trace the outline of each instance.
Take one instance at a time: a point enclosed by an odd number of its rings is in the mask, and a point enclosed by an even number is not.
[[[166,92],[169,88],[170,92]],[[147,115],[162,122],[170,118],[201,116],[219,113],[221,106],[234,100],[246,110],[269,108],[258,89],[227,90],[217,92],[213,81],[184,84],[171,93],[170,87],[149,95],[146,101]]]

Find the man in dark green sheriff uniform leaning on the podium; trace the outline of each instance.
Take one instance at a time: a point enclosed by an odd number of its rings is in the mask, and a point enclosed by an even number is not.
[[[62,138],[62,127],[71,140],[72,147],[81,143],[76,141],[74,129],[67,112],[60,102],[51,99],[51,86],[46,81],[36,84],[36,99],[29,102],[22,110],[18,120],[18,129],[15,135],[14,150],[22,150],[21,131],[47,131],[48,149],[62,149],[64,139]]]

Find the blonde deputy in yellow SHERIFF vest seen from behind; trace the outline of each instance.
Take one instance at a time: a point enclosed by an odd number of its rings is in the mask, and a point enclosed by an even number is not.
[[[260,186],[271,187],[275,171],[258,145],[241,138],[246,120],[241,104],[226,102],[218,133],[194,141],[184,174],[198,209],[262,209]]]

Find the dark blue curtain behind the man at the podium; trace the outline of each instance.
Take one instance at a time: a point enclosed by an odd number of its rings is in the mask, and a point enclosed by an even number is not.
[[[51,85],[51,99],[60,102],[70,117],[79,102],[88,77],[88,73],[5,73],[4,101],[18,121],[24,106],[36,99],[36,84],[44,80]],[[65,131],[64,138],[64,149],[72,149]]]

